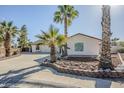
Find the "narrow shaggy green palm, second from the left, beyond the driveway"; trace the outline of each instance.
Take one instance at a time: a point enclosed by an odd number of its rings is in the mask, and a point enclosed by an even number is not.
[[[18,45],[20,46],[21,50],[25,47],[28,47],[28,37],[27,37],[27,28],[26,25],[23,25],[21,29],[18,32],[19,38],[18,38]]]

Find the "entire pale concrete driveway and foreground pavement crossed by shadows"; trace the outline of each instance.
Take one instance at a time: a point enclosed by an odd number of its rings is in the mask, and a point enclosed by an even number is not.
[[[19,57],[0,61],[0,87],[43,88],[124,88],[124,80],[103,80],[58,73],[41,67],[39,60],[47,54],[22,54]]]

